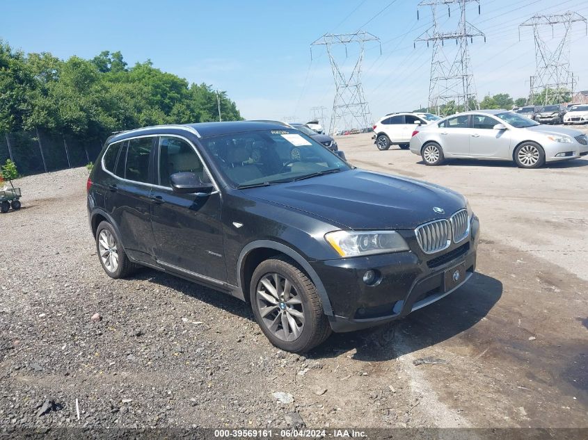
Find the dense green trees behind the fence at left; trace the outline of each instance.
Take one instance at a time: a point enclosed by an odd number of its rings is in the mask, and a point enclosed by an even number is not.
[[[0,133],[42,128],[104,140],[113,131],[156,124],[241,120],[212,85],[153,67],[129,67],[120,51],[90,60],[24,54],[0,40]]]

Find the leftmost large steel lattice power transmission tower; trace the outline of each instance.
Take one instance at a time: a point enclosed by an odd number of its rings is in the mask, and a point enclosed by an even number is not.
[[[365,129],[372,126],[372,115],[363,94],[361,85],[361,65],[363,63],[363,48],[367,42],[378,42],[380,39],[369,32],[357,31],[356,33],[332,34],[326,33],[321,38],[310,44],[310,58],[312,60],[312,46],[323,45],[326,47],[328,59],[335,79],[335,99],[333,99],[333,113],[329,133],[333,134],[337,129],[359,128]],[[358,44],[359,55],[349,75],[342,70],[342,65],[335,59],[334,47],[342,44],[347,58],[347,47]],[[380,44],[380,54],[382,47]],[[354,124],[357,124],[355,127]]]

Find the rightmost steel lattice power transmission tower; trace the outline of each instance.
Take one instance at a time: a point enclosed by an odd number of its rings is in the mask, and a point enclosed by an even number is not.
[[[575,77],[570,70],[570,30],[575,22],[584,22],[588,35],[588,22],[578,13],[568,11],[556,15],[533,15],[518,26],[518,40],[521,41],[521,27],[531,26],[535,38],[535,61],[537,67],[532,77],[530,104],[561,104],[566,95],[573,95]],[[562,26],[557,26],[562,25]],[[548,44],[541,30],[551,26],[552,42]],[[555,26],[563,28],[564,35],[555,39]],[[554,44],[557,43],[556,44]],[[536,102],[539,99],[539,102]]]

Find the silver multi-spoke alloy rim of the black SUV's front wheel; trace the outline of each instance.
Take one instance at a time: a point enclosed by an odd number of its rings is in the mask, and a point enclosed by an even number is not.
[[[267,273],[257,283],[255,298],[263,325],[282,341],[294,341],[304,329],[301,298],[289,279]]]

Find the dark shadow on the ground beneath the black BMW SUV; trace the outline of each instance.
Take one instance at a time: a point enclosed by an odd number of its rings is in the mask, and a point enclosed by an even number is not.
[[[210,304],[255,321],[251,307],[237,298],[187,280],[141,268],[133,277]],[[470,281],[447,297],[415,311],[402,320],[358,332],[334,333],[319,347],[306,353],[309,359],[331,358],[356,350],[353,359],[386,361],[429,347],[460,334],[482,320],[502,296],[498,279],[475,273]],[[399,340],[402,333],[402,341]],[[408,343],[406,343],[408,341]]]

